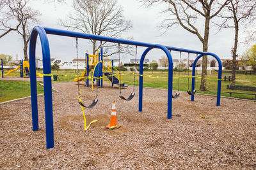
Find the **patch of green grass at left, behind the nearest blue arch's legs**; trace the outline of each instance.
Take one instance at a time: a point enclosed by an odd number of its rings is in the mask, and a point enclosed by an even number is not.
[[[44,87],[37,82],[37,94],[44,93]],[[0,80],[0,102],[31,96],[29,81]]]

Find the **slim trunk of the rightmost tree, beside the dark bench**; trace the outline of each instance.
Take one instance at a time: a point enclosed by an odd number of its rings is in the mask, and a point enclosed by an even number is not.
[[[235,24],[235,42],[234,42],[234,49],[232,53],[232,76],[231,76],[231,85],[236,85],[236,57],[237,57],[237,43],[238,43],[238,22],[236,20],[236,17],[234,17],[234,24]]]

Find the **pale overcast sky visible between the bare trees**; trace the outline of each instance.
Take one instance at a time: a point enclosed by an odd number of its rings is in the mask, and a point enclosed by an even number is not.
[[[40,25],[43,27],[51,27],[56,29],[66,29],[58,25],[58,18],[65,18],[68,12],[72,11],[70,4],[59,3],[42,3],[42,1],[31,0],[32,8],[42,13],[40,16]],[[182,27],[172,27],[168,32],[161,35],[163,30],[159,30],[157,25],[161,22],[161,6],[153,6],[150,9],[141,7],[141,3],[137,0],[118,0],[118,5],[124,8],[124,17],[131,20],[132,29],[125,33],[123,37],[133,37],[134,41],[142,41],[147,43],[157,43],[161,45],[175,46],[179,48],[187,48],[191,50],[202,51],[202,43],[199,39]],[[202,21],[204,22],[204,21]],[[203,27],[204,29],[204,27]],[[243,39],[243,31],[240,31],[240,39]],[[76,39],[63,36],[48,35],[51,58],[71,61],[76,58]],[[209,52],[216,53],[221,59],[231,59],[230,50],[234,44],[234,30],[225,29],[216,34],[216,29],[210,29]],[[79,58],[84,56],[85,50],[88,49],[92,53],[92,46],[88,40],[79,39]],[[138,58],[140,58],[145,48],[138,48]],[[243,44],[239,45],[238,53],[241,54],[245,50]],[[13,59],[23,59],[22,39],[15,31],[7,34],[0,39],[0,53],[12,55]],[[147,55],[147,59],[160,59],[164,53],[161,50],[154,49]],[[173,58],[177,59],[179,53],[172,53]],[[36,46],[36,56],[42,58],[40,42]],[[118,57],[117,55],[114,57]],[[183,53],[182,58],[186,58],[187,54]],[[125,55],[122,57],[124,62],[128,62],[132,56]],[[134,58],[134,57],[133,57]],[[195,58],[195,55],[191,55]]]

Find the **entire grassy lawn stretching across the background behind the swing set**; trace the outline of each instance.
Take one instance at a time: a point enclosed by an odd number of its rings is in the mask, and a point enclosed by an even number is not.
[[[42,69],[36,70],[38,73],[42,73]],[[79,70],[79,75],[83,73],[83,70]],[[123,83],[128,84],[128,85],[133,85],[133,75],[131,74],[131,71],[124,71],[122,72],[125,75],[123,76]],[[138,74],[138,71],[136,71]],[[17,74],[17,73],[16,73]],[[67,70],[52,70],[52,74],[58,74],[58,81],[52,81],[52,83],[58,83],[58,82],[67,82],[67,81],[74,81],[74,78],[76,78],[77,73],[76,69],[67,69]],[[168,89],[168,71],[144,71],[144,74],[150,74],[154,76],[159,76],[159,78],[150,78],[147,76],[143,76],[143,87],[152,87],[152,88],[159,88],[159,89]],[[223,73],[227,74],[227,73]],[[68,76],[61,76],[61,75],[68,75]],[[196,74],[197,75],[197,74]],[[12,76],[12,75],[10,75]],[[179,73],[177,71],[173,71],[173,94],[177,92],[178,90],[178,81],[179,81],[179,90],[180,91],[187,91],[188,89],[191,90],[191,78],[189,78],[189,86],[188,86],[188,78],[177,78],[179,76]],[[188,72],[180,72],[180,76],[188,76]],[[191,76],[191,71],[189,72],[189,76]],[[197,76],[200,76],[198,74]],[[202,93],[202,94],[212,94],[216,95],[217,94],[217,79],[218,79],[218,73],[216,71],[211,71],[211,74],[207,74],[207,88],[208,91],[206,92],[201,92],[199,91],[200,87],[200,78],[196,78],[196,85],[195,89],[197,93]],[[108,81],[108,78],[104,78],[105,81]],[[29,87],[29,82],[22,82],[22,83],[28,83],[28,88],[25,88],[26,90],[20,90],[22,93],[20,96],[30,96],[30,87]],[[17,83],[12,83],[10,86],[6,85],[7,87],[12,87],[13,89],[17,89],[16,85]],[[139,85],[139,76],[136,76],[136,86]],[[229,97],[230,94],[225,93],[225,92],[230,92],[231,90],[227,90],[227,85],[230,85],[230,81],[222,81],[221,82],[221,96],[227,96]],[[251,86],[251,87],[256,87],[256,75],[245,75],[245,74],[236,74],[236,85],[243,85],[243,86]],[[4,89],[2,87],[3,85],[0,85],[1,89]],[[15,86],[15,87],[14,87]],[[20,87],[20,85],[17,85]],[[38,94],[40,93],[40,89],[42,87],[38,87]],[[8,88],[7,88],[8,89]],[[4,90],[5,91],[5,90]],[[11,90],[12,91],[12,90]],[[28,91],[28,94],[24,94],[24,91]],[[235,92],[245,92],[245,93],[254,93],[255,92],[247,92],[247,91],[242,91],[242,90],[234,90]],[[3,93],[3,90],[0,90],[1,95]],[[43,90],[42,90],[43,92]],[[16,94],[18,93],[18,90],[15,92]],[[4,92],[4,94],[9,94],[9,92]],[[10,95],[10,96],[13,96]],[[8,98],[8,96],[6,96]],[[255,96],[253,95],[245,95],[245,94],[232,94],[232,97],[238,97],[238,98],[243,98],[243,99],[254,99]],[[19,98],[19,97],[15,97]],[[9,100],[9,99],[8,99]]]

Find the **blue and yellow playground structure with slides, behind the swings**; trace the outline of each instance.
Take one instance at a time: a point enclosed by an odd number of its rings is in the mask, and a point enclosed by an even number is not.
[[[119,89],[127,87],[125,83],[122,83],[122,74],[120,75],[119,71],[113,66],[113,60],[109,60],[108,55],[103,55],[102,48],[100,48],[100,52],[97,50],[95,55],[89,54],[87,50],[85,53],[85,60],[83,73],[78,78],[74,78],[74,81],[77,83],[85,80],[85,85],[89,87],[89,81],[92,80],[93,90],[93,83],[95,80],[99,79],[97,85],[102,87],[103,78],[108,78],[112,87],[114,87],[114,85],[118,85]]]

